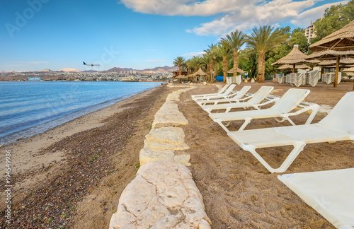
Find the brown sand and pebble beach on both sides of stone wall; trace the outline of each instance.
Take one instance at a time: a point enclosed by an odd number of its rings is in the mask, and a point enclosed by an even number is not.
[[[236,86],[239,90],[245,84]],[[274,86],[281,96],[285,84],[249,83],[253,93]],[[183,127],[190,146],[189,168],[200,190],[212,228],[334,228],[270,174],[253,155],[243,151],[208,117],[190,95],[215,93],[215,85],[181,94],[178,107],[188,119]],[[305,87],[302,87],[305,88]],[[334,106],[353,88],[319,83],[306,101]],[[0,228],[108,228],[122,190],[135,177],[139,151],[149,133],[154,114],[176,88],[159,86],[110,107],[62,124],[43,134],[0,148],[12,152],[13,222],[4,222],[4,181],[1,180]],[[303,124],[308,114],[293,120]],[[313,122],[324,116],[317,115]],[[230,128],[238,128],[240,122]],[[246,129],[280,127],[274,119],[253,120]],[[290,147],[263,149],[270,165],[279,165]],[[1,155],[3,154],[1,153]],[[0,158],[4,173],[4,157]],[[304,151],[285,173],[354,167],[354,144],[346,141],[316,143]]]

